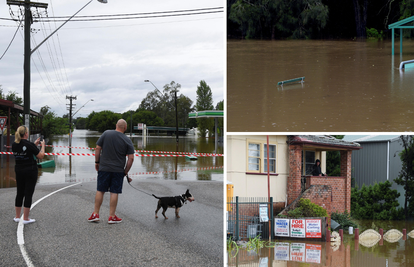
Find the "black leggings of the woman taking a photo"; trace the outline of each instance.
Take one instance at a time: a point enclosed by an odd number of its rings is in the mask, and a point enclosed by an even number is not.
[[[32,197],[37,182],[37,165],[16,165],[17,195],[15,206],[30,208],[32,206]]]

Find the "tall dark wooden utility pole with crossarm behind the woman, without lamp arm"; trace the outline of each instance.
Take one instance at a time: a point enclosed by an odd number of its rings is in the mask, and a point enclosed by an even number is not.
[[[30,2],[30,0],[16,1],[7,0],[8,5],[24,7],[24,82],[23,82],[23,100],[24,100],[24,124],[30,130],[30,26],[33,23],[31,7],[47,8],[46,3]]]

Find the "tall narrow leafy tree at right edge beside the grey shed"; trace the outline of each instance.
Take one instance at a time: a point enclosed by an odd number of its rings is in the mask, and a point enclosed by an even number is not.
[[[414,138],[411,135],[401,135],[400,142],[404,150],[400,153],[402,168],[395,183],[404,188],[405,218],[414,215]]]

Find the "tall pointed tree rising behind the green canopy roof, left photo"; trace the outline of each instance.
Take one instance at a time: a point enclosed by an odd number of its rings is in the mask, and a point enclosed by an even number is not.
[[[197,102],[195,105],[197,111],[212,110],[213,109],[213,93],[210,86],[205,81],[200,81],[200,86],[197,86]],[[202,137],[206,136],[207,130],[213,132],[214,122],[210,118],[197,119],[198,130]]]

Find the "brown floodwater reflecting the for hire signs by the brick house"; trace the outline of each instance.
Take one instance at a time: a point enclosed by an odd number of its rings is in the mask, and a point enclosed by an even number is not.
[[[414,230],[414,222],[373,222],[360,223],[360,233],[366,229]],[[405,240],[404,240],[405,239]],[[414,266],[414,239],[401,238],[390,243],[381,240],[372,247],[365,247],[344,231],[344,240],[341,244],[332,245],[325,242],[306,242],[304,240],[277,240],[273,248],[255,251],[240,250],[234,257],[228,255],[227,266],[337,266],[337,267],[402,267]]]

